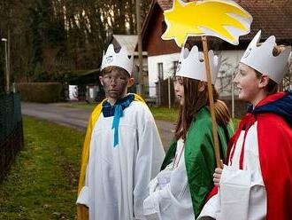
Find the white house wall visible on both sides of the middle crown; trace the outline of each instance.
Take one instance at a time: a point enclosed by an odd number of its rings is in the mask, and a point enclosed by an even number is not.
[[[221,66],[215,87],[221,97],[231,96],[231,79],[244,51],[221,51]],[[158,63],[162,63],[164,79],[173,75],[174,61],[178,61],[179,53],[148,57],[150,97],[157,97],[155,83],[158,82]],[[235,90],[236,94],[236,90]]]

